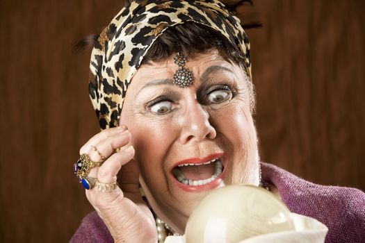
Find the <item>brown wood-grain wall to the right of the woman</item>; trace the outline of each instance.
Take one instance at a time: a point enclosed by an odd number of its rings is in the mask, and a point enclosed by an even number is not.
[[[364,2],[255,4],[263,28],[248,34],[261,159],[364,190]]]

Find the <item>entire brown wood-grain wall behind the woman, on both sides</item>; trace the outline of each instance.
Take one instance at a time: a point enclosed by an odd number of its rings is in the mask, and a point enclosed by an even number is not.
[[[256,1],[248,31],[261,159],[316,183],[365,190],[364,1]],[[67,242],[92,210],[72,175],[99,131],[90,51],[116,0],[0,1],[0,242]]]

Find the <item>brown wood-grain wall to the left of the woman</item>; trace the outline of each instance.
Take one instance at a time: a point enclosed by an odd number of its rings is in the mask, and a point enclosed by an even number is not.
[[[90,51],[120,1],[1,1],[0,242],[67,242],[92,208],[72,175],[99,131],[88,98]]]

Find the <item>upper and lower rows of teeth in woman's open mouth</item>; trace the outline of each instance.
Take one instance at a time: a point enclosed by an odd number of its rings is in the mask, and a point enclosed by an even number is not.
[[[211,176],[211,178],[206,178],[204,180],[199,180],[199,181],[193,181],[190,179],[185,178],[184,174],[182,174],[178,169],[174,169],[172,171],[172,174],[175,176],[175,178],[177,179],[177,181],[179,181],[179,183],[183,183],[184,185],[205,185],[207,183],[211,183],[212,181],[216,180],[216,178],[218,178],[220,176],[220,174],[222,174],[223,171],[223,165],[220,162],[220,160],[218,159],[214,159],[208,162],[204,162],[200,165],[208,165],[209,163],[214,162],[214,166],[215,166],[215,171],[213,176]],[[183,165],[178,165],[178,167],[182,167],[182,166],[188,166],[188,165],[195,165],[195,164],[183,164]]]

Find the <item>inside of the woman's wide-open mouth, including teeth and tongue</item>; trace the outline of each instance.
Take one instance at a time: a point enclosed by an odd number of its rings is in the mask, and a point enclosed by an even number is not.
[[[213,158],[205,162],[181,163],[172,169],[175,179],[184,185],[206,185],[220,178],[224,171],[222,157]]]

